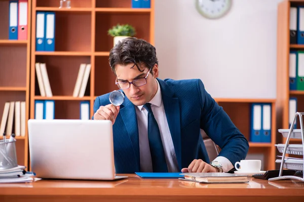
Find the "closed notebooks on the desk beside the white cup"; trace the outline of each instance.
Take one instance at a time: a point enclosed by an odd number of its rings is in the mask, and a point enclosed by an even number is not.
[[[244,183],[249,182],[247,175],[237,175],[232,173],[182,173],[183,180],[200,183]]]

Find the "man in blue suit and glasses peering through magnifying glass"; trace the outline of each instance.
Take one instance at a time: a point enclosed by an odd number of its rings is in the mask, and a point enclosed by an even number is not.
[[[93,119],[113,123],[116,173],[228,172],[245,159],[248,141],[200,79],[158,78],[153,45],[124,39],[109,63],[125,101],[115,107],[109,93],[96,97]],[[221,148],[212,162],[200,129]]]

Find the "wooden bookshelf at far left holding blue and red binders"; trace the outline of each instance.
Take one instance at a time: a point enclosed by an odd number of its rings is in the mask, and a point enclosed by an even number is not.
[[[27,14],[27,39],[9,40],[9,0],[0,1],[0,115],[2,117],[6,102],[25,101],[25,136],[16,136],[16,151],[18,165],[26,167],[28,167],[31,1],[27,4]],[[15,132],[14,123],[13,132]],[[3,139],[2,134],[0,138]]]

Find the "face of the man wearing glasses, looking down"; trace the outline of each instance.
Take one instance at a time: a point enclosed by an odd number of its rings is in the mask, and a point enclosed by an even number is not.
[[[140,72],[134,64],[124,65],[116,65],[116,75],[118,82],[132,82],[134,79],[144,78],[149,69],[145,65],[141,65]],[[133,68],[132,68],[133,67]],[[149,102],[157,91],[157,82],[156,78],[158,77],[158,65],[155,64],[152,68],[153,75],[151,73],[146,77],[147,83],[136,87],[133,84],[130,84],[130,88],[122,89],[128,99],[135,105],[140,106]]]

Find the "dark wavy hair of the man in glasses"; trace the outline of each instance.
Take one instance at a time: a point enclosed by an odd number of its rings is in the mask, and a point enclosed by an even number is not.
[[[143,39],[135,37],[123,39],[111,49],[109,64],[112,72],[116,75],[116,65],[128,65],[130,63],[134,63],[140,72],[143,72],[140,69],[141,64],[145,64],[147,68],[151,69],[155,64],[158,64],[156,48]],[[150,74],[153,74],[153,72],[151,71]]]

